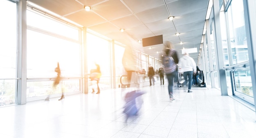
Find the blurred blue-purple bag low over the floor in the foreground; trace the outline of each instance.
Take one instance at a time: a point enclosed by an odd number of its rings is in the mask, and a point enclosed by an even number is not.
[[[126,122],[130,116],[137,116],[138,111],[142,105],[142,100],[138,99],[139,96],[144,94],[140,90],[130,91],[126,93],[124,100],[126,105],[124,106],[124,114],[126,114]]]

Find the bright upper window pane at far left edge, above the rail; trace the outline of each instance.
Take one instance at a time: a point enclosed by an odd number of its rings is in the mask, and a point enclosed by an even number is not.
[[[17,6],[0,1],[0,78],[16,78]]]

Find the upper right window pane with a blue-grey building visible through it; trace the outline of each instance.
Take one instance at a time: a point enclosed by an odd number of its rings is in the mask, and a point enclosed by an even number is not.
[[[233,0],[227,10],[233,65],[249,60],[243,0]]]

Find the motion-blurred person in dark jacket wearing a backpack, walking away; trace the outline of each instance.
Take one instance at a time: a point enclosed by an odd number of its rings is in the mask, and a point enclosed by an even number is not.
[[[170,48],[164,49],[162,62],[164,65],[165,75],[168,80],[168,93],[170,102],[175,101],[173,98],[173,78],[176,76],[177,72],[177,63],[179,62],[179,58],[177,56],[177,51],[171,48],[171,42],[169,43]]]

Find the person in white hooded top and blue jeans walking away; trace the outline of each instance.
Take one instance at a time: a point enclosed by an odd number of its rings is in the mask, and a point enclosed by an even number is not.
[[[183,76],[185,80],[185,82],[182,83],[182,87],[188,83],[187,78],[189,78],[188,93],[193,92],[191,91],[191,87],[193,75],[196,73],[195,61],[189,56],[189,53],[185,52],[184,56],[180,58],[179,65],[183,71]]]

